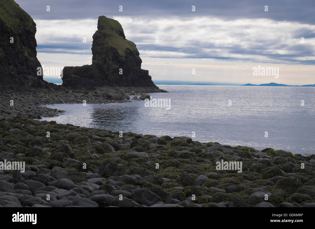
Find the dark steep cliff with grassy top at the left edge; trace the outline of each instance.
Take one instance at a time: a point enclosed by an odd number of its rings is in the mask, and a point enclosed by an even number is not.
[[[44,85],[37,76],[35,22],[13,0],[1,0],[0,8],[0,86],[24,91]]]

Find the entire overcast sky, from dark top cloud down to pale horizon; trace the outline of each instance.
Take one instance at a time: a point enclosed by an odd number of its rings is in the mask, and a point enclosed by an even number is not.
[[[135,42],[155,83],[315,84],[314,0],[15,1],[37,24],[37,58],[45,67],[91,64],[92,36],[104,15]],[[258,65],[279,67],[278,78],[253,75]],[[46,80],[60,81],[54,78]]]

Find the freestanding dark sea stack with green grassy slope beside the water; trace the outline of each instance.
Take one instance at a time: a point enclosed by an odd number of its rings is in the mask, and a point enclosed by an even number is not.
[[[134,42],[125,38],[116,20],[100,16],[93,35],[92,65],[65,67],[62,85],[69,88],[125,87],[160,92],[142,60]],[[119,74],[122,73],[122,74]]]

